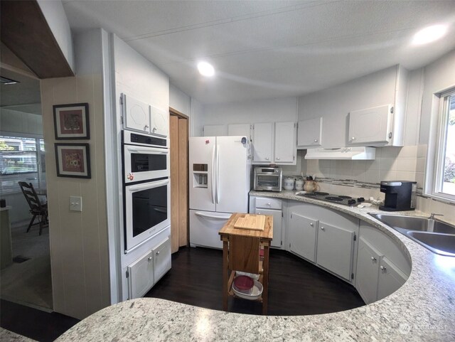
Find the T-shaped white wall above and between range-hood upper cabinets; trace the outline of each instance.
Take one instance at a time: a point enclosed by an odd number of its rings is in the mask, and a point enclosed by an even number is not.
[[[397,66],[299,97],[299,120],[323,117],[323,146],[346,146],[348,113],[395,103]]]

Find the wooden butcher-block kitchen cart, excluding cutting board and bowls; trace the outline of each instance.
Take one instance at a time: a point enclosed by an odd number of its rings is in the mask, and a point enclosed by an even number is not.
[[[228,297],[236,296],[232,290],[235,271],[259,274],[262,295],[253,301],[262,302],[262,314],[267,314],[269,292],[269,247],[273,237],[273,216],[265,215],[264,230],[246,230],[234,227],[245,213],[233,213],[219,234],[223,241],[223,309],[228,311]],[[264,250],[263,259],[259,249]],[[249,299],[245,299],[249,300]]]

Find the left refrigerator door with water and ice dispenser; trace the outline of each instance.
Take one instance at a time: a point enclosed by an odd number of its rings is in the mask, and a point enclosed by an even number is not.
[[[189,139],[190,209],[215,211],[215,137]]]

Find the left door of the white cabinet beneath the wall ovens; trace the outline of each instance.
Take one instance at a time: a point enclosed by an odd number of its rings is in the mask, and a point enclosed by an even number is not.
[[[154,253],[148,252],[128,267],[129,299],[144,296],[154,286]]]

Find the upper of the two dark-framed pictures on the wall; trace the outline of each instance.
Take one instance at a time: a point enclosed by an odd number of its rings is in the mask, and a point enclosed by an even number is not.
[[[55,139],[90,139],[88,103],[54,105]]]

